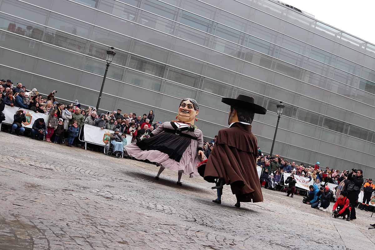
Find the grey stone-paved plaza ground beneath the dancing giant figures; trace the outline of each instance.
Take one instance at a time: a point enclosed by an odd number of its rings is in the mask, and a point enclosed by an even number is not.
[[[155,165],[0,132],[0,249],[375,249],[371,213],[347,222],[263,189],[221,205],[212,184]]]

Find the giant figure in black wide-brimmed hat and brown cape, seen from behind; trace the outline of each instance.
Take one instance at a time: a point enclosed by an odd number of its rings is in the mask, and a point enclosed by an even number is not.
[[[236,99],[223,98],[231,106],[229,128],[221,129],[206,163],[198,167],[204,180],[216,183],[217,199],[221,204],[223,185],[231,185],[236,195],[236,207],[240,202],[261,202],[263,195],[257,172],[258,143],[251,132],[254,114],[266,114],[267,110],[254,103],[254,98],[239,95]]]

